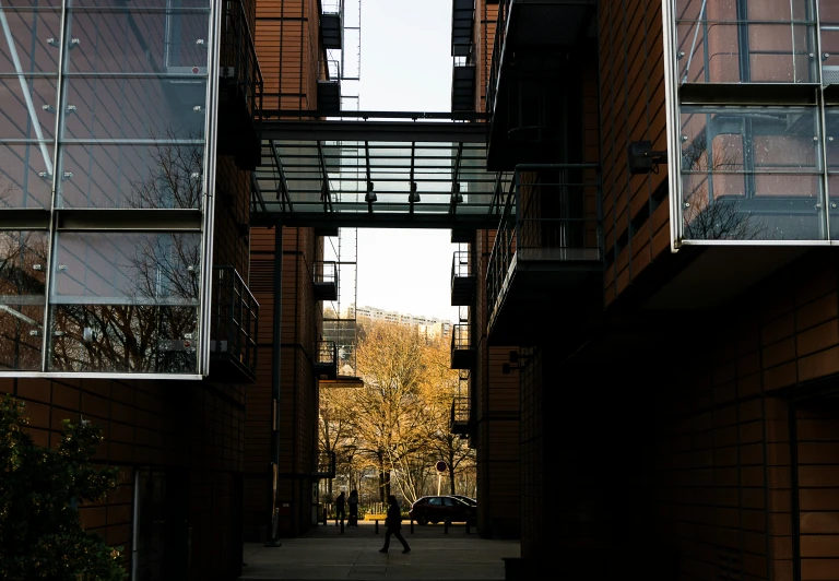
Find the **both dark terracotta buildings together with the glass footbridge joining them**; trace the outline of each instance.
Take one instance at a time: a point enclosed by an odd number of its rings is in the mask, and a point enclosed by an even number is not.
[[[327,119],[341,5],[0,3],[0,389],[105,428],[85,525],[202,580],[312,526],[323,236],[449,227],[511,579],[839,579],[837,3],[453,0],[387,122]]]

